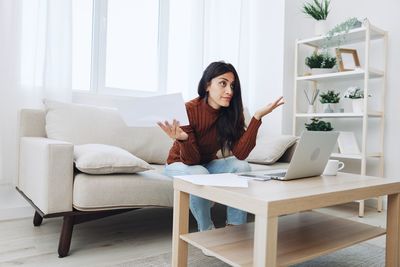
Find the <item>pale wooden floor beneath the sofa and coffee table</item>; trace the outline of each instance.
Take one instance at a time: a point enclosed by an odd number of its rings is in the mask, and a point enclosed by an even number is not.
[[[356,203],[320,209],[343,218],[385,226],[385,212],[366,209],[358,218]],[[222,207],[216,214],[223,214]],[[217,225],[225,218],[217,216]],[[32,219],[0,222],[0,266],[113,266],[135,258],[171,250],[172,209],[146,209],[77,225],[70,256],[58,258],[60,218],[45,219],[33,227]],[[191,221],[191,229],[195,224]],[[368,241],[384,247],[385,237]]]

